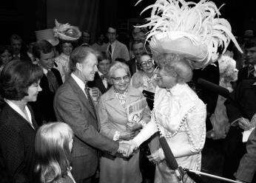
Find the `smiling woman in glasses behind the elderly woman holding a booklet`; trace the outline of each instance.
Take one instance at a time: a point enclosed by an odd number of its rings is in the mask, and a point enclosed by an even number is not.
[[[155,93],[156,83],[156,68],[151,55],[144,52],[138,61],[138,65],[142,70],[138,70],[132,76],[131,85],[141,91],[151,91]]]

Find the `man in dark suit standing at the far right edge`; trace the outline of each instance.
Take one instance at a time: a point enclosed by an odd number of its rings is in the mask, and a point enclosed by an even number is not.
[[[229,122],[237,124],[231,125],[225,142],[223,176],[230,179],[235,179],[233,174],[238,169],[241,157],[246,153],[246,143],[242,142],[241,132],[250,128],[248,123],[256,113],[255,38],[246,42],[245,50],[246,61],[250,65],[239,70],[237,87],[225,103]]]

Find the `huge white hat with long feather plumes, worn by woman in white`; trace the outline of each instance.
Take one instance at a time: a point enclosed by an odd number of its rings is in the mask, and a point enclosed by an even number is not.
[[[152,52],[183,55],[197,69],[217,60],[219,46],[226,52],[230,39],[242,52],[229,21],[219,18],[220,11],[212,1],[157,0],[141,13],[150,8],[151,17],[139,27],[149,27],[146,41]]]

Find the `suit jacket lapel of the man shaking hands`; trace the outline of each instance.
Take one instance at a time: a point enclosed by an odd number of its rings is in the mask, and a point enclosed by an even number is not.
[[[95,118],[95,120],[97,120],[97,117],[95,116],[94,111],[92,110],[92,107],[90,106],[90,103],[89,103],[86,95],[84,94],[84,91],[81,90],[81,88],[75,82],[73,77],[70,77],[69,80],[67,80],[67,82],[70,83],[71,88],[73,89],[75,94],[78,95],[78,98],[81,100],[81,102],[84,104],[84,106],[88,109],[88,111],[90,111],[90,114],[92,114],[92,116]],[[96,113],[97,113],[97,111],[96,111]]]

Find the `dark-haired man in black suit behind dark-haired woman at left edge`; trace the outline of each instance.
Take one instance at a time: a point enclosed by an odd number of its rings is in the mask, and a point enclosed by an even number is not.
[[[48,41],[37,41],[33,46],[33,55],[35,55],[38,65],[41,66],[44,76],[41,78],[40,86],[43,91],[38,94],[35,103],[30,103],[35,112],[36,122],[42,125],[44,122],[56,121],[53,108],[53,98],[58,86],[61,86],[61,74],[54,69],[55,53],[53,46]]]

